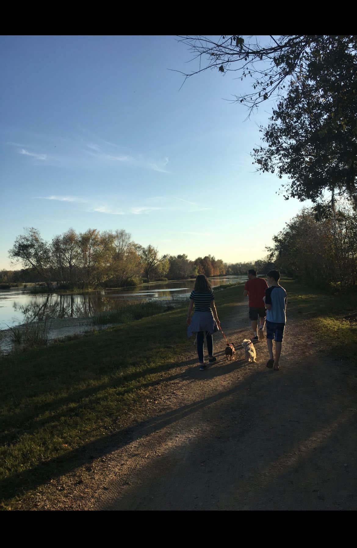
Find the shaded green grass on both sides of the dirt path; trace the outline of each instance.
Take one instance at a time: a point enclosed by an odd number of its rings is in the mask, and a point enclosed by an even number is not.
[[[355,355],[356,323],[341,318],[357,310],[357,297],[336,298],[291,280],[281,283],[288,292],[289,313],[304,318],[328,349],[343,346],[346,357]],[[242,289],[239,284],[217,293],[222,326],[243,300]],[[28,506],[35,489],[88,463],[113,432],[142,413],[150,387],[170,378],[170,370],[185,363],[192,349],[186,310],[178,307],[1,359],[0,491],[5,509]]]

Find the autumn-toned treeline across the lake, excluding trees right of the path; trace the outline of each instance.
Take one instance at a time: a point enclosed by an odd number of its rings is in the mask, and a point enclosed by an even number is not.
[[[143,282],[224,275],[246,275],[256,267],[265,272],[270,261],[227,264],[214,256],[190,260],[186,254],[160,255],[152,245],[143,247],[133,242],[125,230],[88,229],[77,233],[69,229],[45,241],[34,228],[26,229],[9,250],[21,270],[0,271],[0,284],[44,282],[48,290],[129,287]]]

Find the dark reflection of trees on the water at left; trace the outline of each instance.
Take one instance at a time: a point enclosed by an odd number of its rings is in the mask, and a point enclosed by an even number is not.
[[[133,299],[131,303],[146,299]],[[44,300],[32,299],[26,304],[13,303],[16,312],[23,314],[29,321],[51,319],[88,318],[108,310],[117,310],[128,304],[124,299],[92,295],[47,295]]]

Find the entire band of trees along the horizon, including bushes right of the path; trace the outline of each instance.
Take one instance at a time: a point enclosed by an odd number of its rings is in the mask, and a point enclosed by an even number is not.
[[[265,259],[228,264],[211,255],[194,260],[185,254],[160,256],[154,246],[133,242],[125,230],[69,229],[46,242],[31,228],[9,250],[23,268],[0,271],[0,288],[31,282],[45,282],[49,290],[129,287],[198,274],[246,275],[250,268],[264,275],[276,268],[314,287],[357,290],[357,217],[352,207],[340,202],[304,208],[272,239]]]

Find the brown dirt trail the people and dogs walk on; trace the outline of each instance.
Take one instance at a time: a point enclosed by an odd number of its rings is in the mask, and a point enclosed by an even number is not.
[[[247,303],[225,319],[228,339],[250,336]],[[57,509],[356,510],[356,369],[328,356],[304,321],[288,317],[281,370],[243,351],[201,372],[187,361],[153,386],[132,425]],[[63,481],[63,479],[62,479]]]

